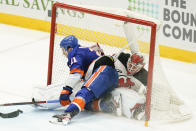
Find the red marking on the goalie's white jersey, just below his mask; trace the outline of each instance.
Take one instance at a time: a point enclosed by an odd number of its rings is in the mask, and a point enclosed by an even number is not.
[[[118,87],[131,87],[134,85],[135,83],[131,81],[131,78],[127,76],[119,76]]]

